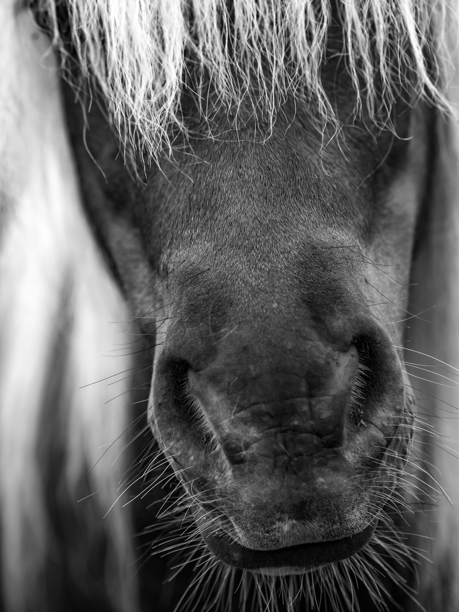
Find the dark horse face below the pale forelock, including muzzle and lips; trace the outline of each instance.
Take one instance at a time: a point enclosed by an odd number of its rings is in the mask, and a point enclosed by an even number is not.
[[[102,122],[89,133],[106,174],[81,153],[91,214],[156,345],[149,420],[230,564],[345,558],[395,487],[426,117],[405,108],[401,138],[354,123],[324,145],[288,104],[263,143],[222,116],[220,138],[141,186]]]

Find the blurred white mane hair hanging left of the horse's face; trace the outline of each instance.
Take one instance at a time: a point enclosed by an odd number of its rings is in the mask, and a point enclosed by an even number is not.
[[[129,358],[103,357],[117,336],[108,333],[125,305],[102,264],[83,215],[59,94],[58,62],[50,42],[26,11],[0,3],[0,520],[2,588],[7,610],[44,609],[40,575],[53,539],[37,466],[43,388],[59,323],[62,289],[71,287],[67,487],[99,459],[126,427],[129,389],[83,384],[130,367]],[[119,336],[118,336],[119,338]],[[122,378],[122,377],[121,377]],[[105,447],[106,448],[106,447]],[[117,496],[119,445],[89,475],[104,515]],[[107,572],[114,610],[135,609],[129,517],[117,504],[105,519],[118,573]],[[51,539],[51,540],[50,540]],[[113,564],[116,567],[116,563]],[[78,578],[78,577],[76,577]]]

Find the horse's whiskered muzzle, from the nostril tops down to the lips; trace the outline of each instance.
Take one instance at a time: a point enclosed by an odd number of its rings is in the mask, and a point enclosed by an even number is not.
[[[341,335],[309,326],[277,337],[242,325],[210,336],[176,316],[149,417],[209,550],[252,570],[360,550],[410,437],[400,361],[367,315]]]

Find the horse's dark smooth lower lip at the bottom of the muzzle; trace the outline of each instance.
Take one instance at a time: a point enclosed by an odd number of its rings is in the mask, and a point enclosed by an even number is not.
[[[275,575],[282,575],[303,573],[327,563],[348,559],[370,541],[377,524],[376,518],[363,531],[340,540],[299,544],[277,550],[252,550],[215,532],[203,533],[202,536],[211,553],[228,565],[270,575],[272,570],[277,570]]]

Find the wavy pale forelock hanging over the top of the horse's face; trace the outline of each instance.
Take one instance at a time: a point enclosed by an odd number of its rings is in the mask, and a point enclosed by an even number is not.
[[[442,82],[447,40],[454,40],[446,29],[453,21],[447,2],[337,2],[356,112],[366,104],[373,121],[387,121],[400,89],[447,106]],[[41,9],[54,43],[64,50],[59,4],[42,0]],[[211,75],[224,104],[237,108],[245,94],[256,91],[254,107],[272,120],[276,100],[293,92],[313,100],[319,118],[334,121],[321,83],[329,0],[234,0],[231,15],[221,0],[66,0],[65,5],[83,75],[95,77],[124,143],[151,157],[165,144],[170,147],[168,126],[183,128],[180,99],[190,67],[203,78]],[[198,76],[193,85],[198,100],[204,88],[199,83]]]

